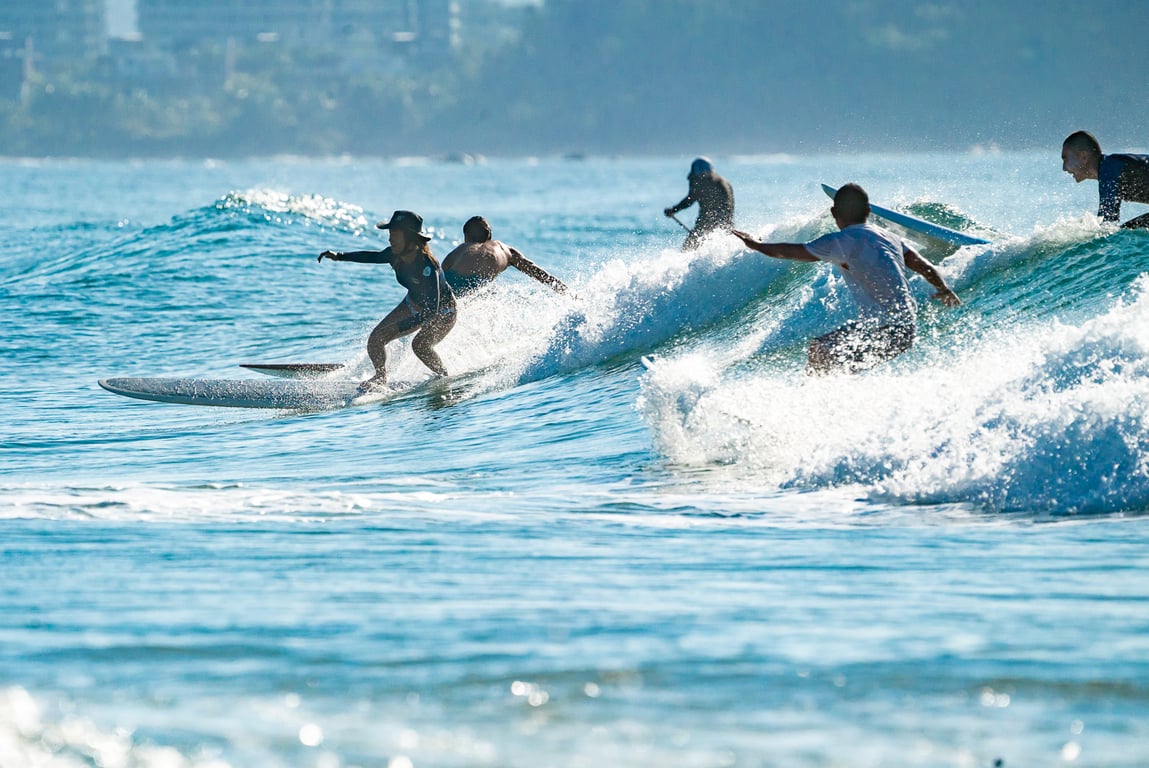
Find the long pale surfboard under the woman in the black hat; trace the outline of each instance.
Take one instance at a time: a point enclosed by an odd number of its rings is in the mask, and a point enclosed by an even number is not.
[[[329,410],[386,400],[400,392],[361,392],[358,382],[283,381],[273,378],[101,378],[109,392],[138,400],[226,408]]]

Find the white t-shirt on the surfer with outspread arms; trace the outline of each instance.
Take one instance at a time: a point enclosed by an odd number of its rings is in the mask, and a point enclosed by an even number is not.
[[[842,270],[862,320],[912,325],[917,304],[905,278],[901,238],[873,224],[850,224],[805,244],[805,249]]]

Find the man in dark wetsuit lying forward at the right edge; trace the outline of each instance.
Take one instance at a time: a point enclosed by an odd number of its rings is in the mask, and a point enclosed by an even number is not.
[[[1074,131],[1062,143],[1062,170],[1078,184],[1087,178],[1097,179],[1101,198],[1097,215],[1108,222],[1120,220],[1123,200],[1149,202],[1149,155],[1104,155],[1089,131]],[[1149,228],[1149,214],[1131,218],[1121,226]]]

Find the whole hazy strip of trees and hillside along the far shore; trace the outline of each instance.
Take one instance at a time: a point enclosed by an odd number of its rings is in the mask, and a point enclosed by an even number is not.
[[[259,39],[175,46],[137,23],[137,0],[108,0],[106,51],[69,67],[41,64],[18,97],[9,89],[0,99],[0,153],[1056,153],[1078,128],[1106,151],[1149,146],[1149,3],[402,0],[396,8],[394,30],[372,23],[365,43],[364,30],[347,26],[293,43],[269,11]]]

